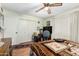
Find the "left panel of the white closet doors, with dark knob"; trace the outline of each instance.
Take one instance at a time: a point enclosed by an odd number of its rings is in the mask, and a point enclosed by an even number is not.
[[[16,44],[26,42],[28,40],[28,22],[19,20],[16,32]]]

